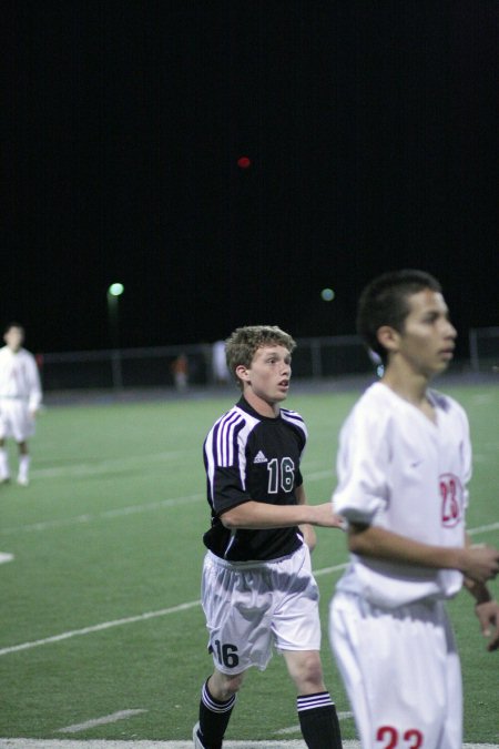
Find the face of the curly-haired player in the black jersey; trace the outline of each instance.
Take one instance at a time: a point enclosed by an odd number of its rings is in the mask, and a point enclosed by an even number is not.
[[[240,376],[245,392],[268,404],[279,403],[287,396],[291,381],[291,353],[285,346],[269,345],[257,348],[249,367],[242,367]]]

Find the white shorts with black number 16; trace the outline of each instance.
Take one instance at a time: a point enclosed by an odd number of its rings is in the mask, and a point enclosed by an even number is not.
[[[235,675],[264,670],[272,647],[319,650],[319,593],[305,544],[273,561],[228,563],[204,558],[202,603],[215,667]]]

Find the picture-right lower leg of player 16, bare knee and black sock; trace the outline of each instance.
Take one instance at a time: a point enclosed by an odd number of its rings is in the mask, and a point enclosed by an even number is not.
[[[317,650],[284,650],[289,676],[297,690],[296,708],[308,749],[340,749],[336,707],[326,690]]]

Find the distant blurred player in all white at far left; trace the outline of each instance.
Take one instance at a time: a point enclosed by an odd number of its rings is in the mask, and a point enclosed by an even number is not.
[[[0,482],[10,480],[6,438],[13,437],[19,448],[18,484],[28,486],[30,455],[28,438],[34,434],[34,418],[42,392],[34,356],[22,348],[24,330],[10,323],[0,348]]]

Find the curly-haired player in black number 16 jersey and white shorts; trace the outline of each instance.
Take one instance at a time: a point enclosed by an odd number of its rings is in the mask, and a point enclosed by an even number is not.
[[[204,535],[202,598],[214,671],[203,685],[194,747],[220,749],[243,681],[264,670],[275,646],[297,690],[309,749],[342,747],[336,708],[323,680],[312,526],[342,527],[330,503],[307,505],[301,474],[302,417],[281,403],[289,389],[293,338],[275,326],[237,328],[227,365],[238,403],[204,443],[212,525]]]

